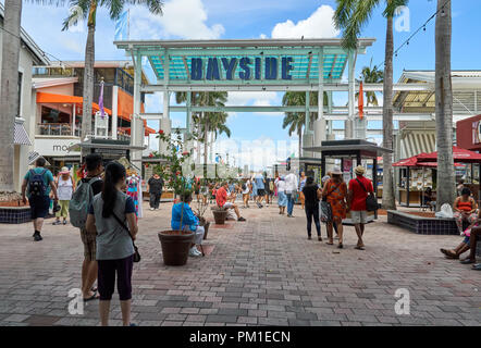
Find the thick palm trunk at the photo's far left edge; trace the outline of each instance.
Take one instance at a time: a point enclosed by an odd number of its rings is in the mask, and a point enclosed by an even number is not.
[[[0,97],[0,191],[14,191],[13,128],[18,115],[18,57],[22,1],[5,0]]]

